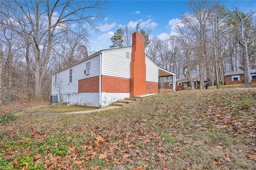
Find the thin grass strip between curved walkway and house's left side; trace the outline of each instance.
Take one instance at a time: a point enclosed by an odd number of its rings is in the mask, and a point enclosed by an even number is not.
[[[67,105],[43,105],[32,108],[35,112],[76,112],[76,111],[90,111],[95,108],[82,106],[67,106]]]

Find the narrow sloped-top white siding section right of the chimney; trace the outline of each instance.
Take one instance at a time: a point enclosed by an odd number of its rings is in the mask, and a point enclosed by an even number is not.
[[[158,66],[146,55],[146,81],[158,82]]]

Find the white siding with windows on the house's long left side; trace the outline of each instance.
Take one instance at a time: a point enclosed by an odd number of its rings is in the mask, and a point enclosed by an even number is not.
[[[86,69],[86,63],[90,62],[90,74],[84,74]],[[72,82],[69,83],[69,70],[72,69]],[[52,95],[59,94],[59,89],[61,94],[77,94],[78,93],[78,80],[91,78],[98,76],[100,72],[100,57],[95,56],[87,61],[79,63],[67,70],[57,73],[57,82],[61,84],[59,86],[53,86],[52,83]],[[53,75],[52,80],[54,80],[55,75]],[[52,81],[54,82],[54,81]]]

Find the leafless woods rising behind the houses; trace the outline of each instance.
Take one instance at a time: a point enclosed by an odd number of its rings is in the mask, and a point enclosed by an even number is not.
[[[253,11],[229,11],[212,1],[188,5],[192,12],[181,15],[177,33],[169,38],[161,40],[150,29],[141,30],[152,60],[177,73],[178,79],[200,77],[211,84],[225,84],[226,72],[255,69]],[[1,1],[1,102],[49,99],[51,74],[94,53],[87,49],[88,30],[96,29],[93,19],[105,8],[102,1]],[[118,29],[110,47],[131,46],[133,31]]]

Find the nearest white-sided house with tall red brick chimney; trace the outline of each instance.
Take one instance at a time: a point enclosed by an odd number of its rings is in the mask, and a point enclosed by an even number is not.
[[[68,105],[102,107],[126,97],[158,92],[159,77],[175,74],[145,55],[145,38],[132,35],[132,47],[103,49],[52,75],[52,96]]]

